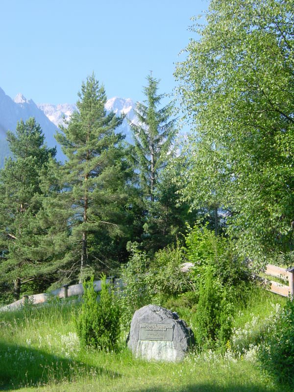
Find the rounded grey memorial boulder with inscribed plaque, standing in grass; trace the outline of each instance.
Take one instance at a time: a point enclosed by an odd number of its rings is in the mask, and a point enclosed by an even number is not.
[[[147,305],[134,313],[127,344],[136,357],[176,362],[194,344],[194,334],[176,313]]]

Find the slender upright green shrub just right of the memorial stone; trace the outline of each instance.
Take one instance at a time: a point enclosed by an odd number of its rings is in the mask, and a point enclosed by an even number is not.
[[[227,293],[220,290],[213,278],[212,270],[207,268],[205,283],[200,285],[199,302],[196,310],[195,337],[201,349],[221,347],[232,331],[232,305]]]

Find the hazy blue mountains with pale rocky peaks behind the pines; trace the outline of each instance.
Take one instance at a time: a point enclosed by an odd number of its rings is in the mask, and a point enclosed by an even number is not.
[[[126,118],[134,121],[134,103],[131,99],[114,97],[109,99],[105,108],[107,111],[113,110],[117,115],[125,114]],[[52,105],[49,103],[36,104],[32,99],[26,99],[22,94],[18,94],[13,100],[8,97],[0,88],[0,168],[3,166],[5,157],[9,156],[8,143],[6,141],[6,131],[15,131],[17,122],[26,121],[34,117],[43,129],[48,147],[57,147],[57,159],[64,160],[61,148],[54,139],[54,134],[60,124],[64,125],[64,119],[69,120],[72,113],[76,110],[74,104]],[[132,142],[132,137],[127,120],[118,131],[126,135],[126,141]]]

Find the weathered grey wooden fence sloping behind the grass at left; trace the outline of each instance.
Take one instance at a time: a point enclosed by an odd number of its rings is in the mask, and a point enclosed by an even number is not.
[[[106,283],[112,283],[116,287],[122,287],[123,285],[122,279],[114,279],[112,277],[106,278]],[[101,291],[101,280],[94,281],[94,290],[96,292]],[[0,311],[15,310],[17,308],[22,307],[25,304],[25,302],[37,305],[37,304],[48,302],[51,298],[54,297],[67,298],[73,295],[82,295],[82,294],[84,294],[84,288],[82,284],[64,285],[59,289],[51,291],[50,293],[24,295],[18,301],[3,306],[2,308],[0,308]]]

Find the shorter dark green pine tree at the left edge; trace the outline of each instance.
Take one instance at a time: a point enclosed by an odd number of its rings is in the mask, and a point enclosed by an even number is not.
[[[37,260],[27,252],[33,247],[35,219],[42,206],[40,173],[56,149],[44,145],[42,129],[35,119],[17,124],[16,133],[7,132],[12,152],[0,171],[0,276],[14,281],[18,299],[21,283],[40,275]]]

